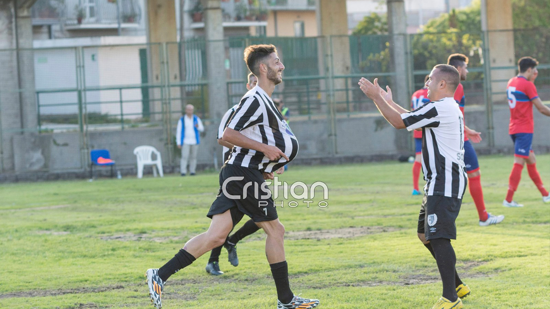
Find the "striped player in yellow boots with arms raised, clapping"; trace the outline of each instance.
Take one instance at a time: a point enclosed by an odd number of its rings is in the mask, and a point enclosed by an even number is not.
[[[467,184],[464,119],[453,99],[459,83],[460,74],[454,67],[436,65],[426,82],[431,102],[409,112],[393,102],[389,87],[384,91],[377,79],[374,84],[365,78],[359,81],[361,90],[394,128],[422,129],[422,169],[427,183],[417,232],[436,259],[443,282],[443,295],[432,309],[463,308],[457,292],[463,297],[470,293],[456,274],[456,256],[450,243],[456,239],[455,219]]]

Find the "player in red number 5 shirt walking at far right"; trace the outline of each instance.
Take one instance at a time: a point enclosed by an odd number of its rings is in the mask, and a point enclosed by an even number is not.
[[[518,61],[519,74],[508,81],[508,105],[510,107],[510,126],[508,133],[514,142],[514,167],[510,173],[508,194],[502,202],[505,207],[522,207],[513,200],[518,189],[521,171],[527,163],[527,172],[542,194],[542,201],[550,203],[550,194],[544,189],[538,174],[535,152],[531,149],[533,141],[533,104],[543,115],[550,116],[550,108],[542,104],[533,81],[537,78],[538,61],[532,57],[522,57]]]

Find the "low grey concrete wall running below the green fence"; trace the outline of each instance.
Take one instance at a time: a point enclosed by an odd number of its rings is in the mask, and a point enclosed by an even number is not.
[[[550,125],[548,118],[535,111],[535,136],[533,137],[533,149],[538,153],[550,152]],[[401,145],[398,130],[390,126],[379,114],[338,115],[336,119],[337,153],[331,157],[331,142],[329,141],[329,123],[326,117],[307,119],[307,117],[294,117],[290,120],[290,126],[298,137],[300,150],[295,164],[323,164],[342,162],[368,162],[393,159],[402,155],[411,156],[412,134],[408,150],[399,151]],[[513,154],[513,144],[508,135],[509,109],[507,106],[494,108],[495,147],[488,148],[486,138],[487,121],[483,107],[471,107],[466,112],[466,124],[470,128],[482,132],[485,139],[480,144],[475,144],[478,154],[508,153]],[[174,125],[175,127],[175,125]],[[201,134],[198,164],[199,169],[213,168],[215,158],[217,167],[222,164],[222,147],[217,144],[217,123],[205,121],[205,133]],[[179,171],[179,156],[169,162],[167,141],[162,128],[135,128],[124,131],[95,131],[87,136],[90,149],[107,148],[111,157],[117,162],[117,168],[123,174],[135,175],[136,159],[133,154],[135,147],[150,145],[161,152],[166,173]],[[175,133],[172,133],[175,134]],[[30,135],[29,135],[30,136]],[[34,134],[32,136],[15,136],[13,148],[15,165],[17,170],[33,171],[28,173],[3,174],[1,181],[14,181],[17,179],[57,179],[59,176],[51,174],[63,174],[72,172],[73,178],[87,177],[86,166],[89,163],[83,159],[81,141],[78,133],[53,133]],[[85,151],[87,152],[87,151]],[[511,158],[510,158],[511,160]],[[107,172],[107,170],[106,170]],[[147,172],[147,170],[146,170]],[[36,174],[38,173],[38,174]],[[150,173],[150,171],[149,171]],[[107,173],[108,174],[108,173]],[[19,177],[19,178],[18,178]],[[31,178],[29,178],[31,177]]]

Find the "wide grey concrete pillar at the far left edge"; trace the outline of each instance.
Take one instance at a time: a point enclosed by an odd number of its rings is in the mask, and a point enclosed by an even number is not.
[[[0,49],[10,49],[0,52],[0,173],[45,168],[42,151],[33,142],[37,111],[29,10],[32,2],[19,4],[0,2]]]

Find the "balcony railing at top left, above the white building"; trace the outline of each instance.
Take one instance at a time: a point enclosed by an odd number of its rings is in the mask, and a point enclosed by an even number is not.
[[[139,0],[38,0],[31,9],[32,23],[114,27],[139,24]]]

